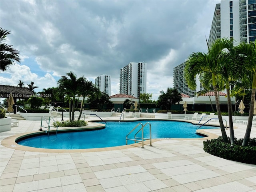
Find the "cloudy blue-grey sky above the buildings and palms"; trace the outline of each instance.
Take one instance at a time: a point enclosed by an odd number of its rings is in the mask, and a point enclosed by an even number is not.
[[[146,62],[147,92],[157,100],[173,87],[173,68],[192,52],[206,52],[218,0],[86,1],[1,0],[0,25],[22,62],[0,73],[0,84],[31,81],[55,87],[72,71],[94,82],[112,76],[111,95],[119,93],[119,72],[129,62]]]

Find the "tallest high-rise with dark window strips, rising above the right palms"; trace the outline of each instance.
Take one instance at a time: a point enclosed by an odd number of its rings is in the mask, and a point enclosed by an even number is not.
[[[234,39],[240,42],[254,42],[256,39],[255,0],[222,0],[216,4],[209,44],[218,38]]]

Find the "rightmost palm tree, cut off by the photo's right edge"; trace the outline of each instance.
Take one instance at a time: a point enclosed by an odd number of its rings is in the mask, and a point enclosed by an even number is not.
[[[244,69],[248,72],[249,78],[252,79],[252,94],[250,101],[250,110],[248,116],[248,124],[246,127],[246,132],[244,135],[244,140],[242,146],[248,146],[250,140],[250,134],[252,130],[252,118],[253,118],[253,109],[254,109],[254,99],[256,92],[256,40],[250,44],[244,42],[240,43],[236,48],[238,53],[241,54],[241,57],[244,59]]]

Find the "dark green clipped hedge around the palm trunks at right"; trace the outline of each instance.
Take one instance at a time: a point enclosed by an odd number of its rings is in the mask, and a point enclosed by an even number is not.
[[[223,141],[222,136],[204,141],[204,151],[224,159],[256,164],[256,138],[250,138],[248,146],[242,146],[243,139],[235,139],[234,146]]]

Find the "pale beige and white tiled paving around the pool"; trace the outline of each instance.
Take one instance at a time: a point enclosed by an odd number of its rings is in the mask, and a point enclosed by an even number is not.
[[[94,119],[97,118],[86,120]],[[104,118],[111,119],[116,120]],[[39,126],[40,121],[21,120],[18,127],[1,132],[0,140],[36,132]],[[243,138],[246,125],[234,123],[234,126],[235,137]],[[229,136],[229,129],[226,131]],[[220,129],[206,132],[210,138],[221,135]],[[254,137],[255,126],[251,133],[251,138]],[[24,150],[12,143],[9,147],[8,143],[1,144],[0,191],[256,191],[256,165],[212,156],[204,152],[203,140],[158,139],[153,146],[144,145],[145,148],[138,144],[66,151]]]

